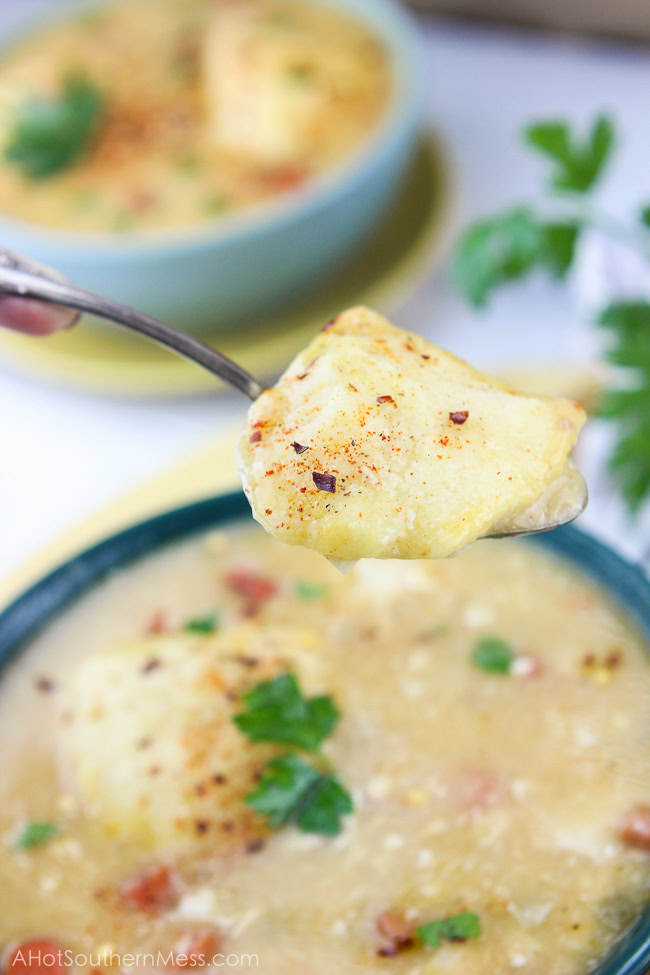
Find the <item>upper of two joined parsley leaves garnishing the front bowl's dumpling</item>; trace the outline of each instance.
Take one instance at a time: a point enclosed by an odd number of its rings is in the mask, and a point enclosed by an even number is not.
[[[233,721],[251,741],[316,751],[339,719],[330,697],[303,697],[293,674],[258,684],[242,700],[248,710],[235,715]]]

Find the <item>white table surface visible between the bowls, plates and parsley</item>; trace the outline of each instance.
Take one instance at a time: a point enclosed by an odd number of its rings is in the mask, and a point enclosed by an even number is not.
[[[0,0],[3,25],[37,0]],[[423,21],[427,112],[448,141],[463,223],[534,194],[547,171],[520,145],[535,118],[586,122],[611,112],[620,147],[603,203],[621,214],[650,200],[650,57],[647,50],[503,29]],[[476,365],[579,362],[595,331],[569,289],[543,279],[509,288],[476,315],[430,274],[390,309]],[[241,397],[119,402],[53,389],[0,365],[0,575],[77,519],[218,436],[244,416]],[[650,519],[628,521],[603,473],[608,431],[595,424],[581,463],[592,493],[584,527],[650,564]]]

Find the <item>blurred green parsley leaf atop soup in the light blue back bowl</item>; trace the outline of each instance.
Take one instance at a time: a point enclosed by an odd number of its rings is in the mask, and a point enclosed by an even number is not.
[[[68,75],[57,99],[32,96],[23,102],[5,147],[5,159],[34,180],[66,169],[87,150],[103,106],[103,95],[89,79]]]

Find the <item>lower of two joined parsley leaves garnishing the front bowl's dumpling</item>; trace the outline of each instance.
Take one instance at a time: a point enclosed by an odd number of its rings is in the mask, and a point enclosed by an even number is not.
[[[341,816],[352,812],[352,799],[334,776],[290,752],[268,762],[245,801],[271,826],[293,821],[303,832],[325,836],[340,833]]]

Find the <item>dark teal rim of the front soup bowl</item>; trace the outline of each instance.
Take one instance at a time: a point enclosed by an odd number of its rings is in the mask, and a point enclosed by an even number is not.
[[[250,515],[241,491],[216,495],[140,521],[87,548],[25,590],[0,613],[2,671],[63,610],[112,572],[166,545]],[[650,580],[592,535],[573,525],[532,535],[538,545],[590,576],[650,639]],[[650,964],[650,907],[589,975],[646,975]]]

